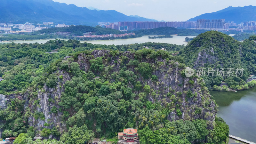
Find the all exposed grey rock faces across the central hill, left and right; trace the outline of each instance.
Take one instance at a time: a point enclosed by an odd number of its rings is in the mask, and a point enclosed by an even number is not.
[[[135,54],[131,52],[122,52],[116,56],[112,56],[110,51],[107,50],[94,50],[91,54],[81,53],[78,55],[77,60],[75,60],[79,65],[80,69],[87,72],[90,69],[90,61],[93,58],[103,57],[103,64],[105,66],[113,66],[112,72],[117,72],[121,69],[122,59],[121,57],[126,56],[128,60],[124,64],[128,64],[130,60],[134,60]],[[66,57],[64,60],[67,60]],[[107,59],[108,58],[108,59]],[[110,59],[109,59],[110,58]],[[205,89],[204,82],[201,78],[186,77],[182,75],[184,72],[184,64],[179,64],[174,60],[165,60],[162,58],[150,59],[142,58],[141,62],[148,62],[154,68],[153,75],[156,75],[159,81],[152,81],[151,79],[144,80],[135,66],[126,65],[127,69],[131,69],[135,74],[138,75],[137,81],[142,84],[148,84],[151,89],[156,92],[156,94],[149,93],[147,99],[153,103],[156,101],[162,102],[162,106],[172,103],[172,112],[168,115],[168,120],[192,120],[192,119],[205,119],[208,121],[214,121],[214,117],[217,112],[217,107],[214,100],[207,89]],[[23,99],[26,100],[25,108],[29,107],[31,113],[42,112],[44,118],[36,119],[33,114],[29,116],[28,123],[30,126],[34,126],[38,131],[43,128],[52,128],[53,126],[58,127],[60,132],[66,130],[66,124],[62,118],[63,113],[57,112],[52,113],[51,109],[56,107],[60,108],[58,102],[61,98],[61,93],[64,92],[63,84],[67,80],[71,79],[71,75],[67,71],[58,69],[56,71],[57,76],[62,75],[63,79],[58,77],[57,86],[55,88],[49,88],[44,84],[43,88],[38,90],[36,99],[39,100],[38,104],[33,104],[34,101],[28,99],[28,93],[22,95]],[[134,86],[129,85],[131,88]],[[188,97],[188,93],[191,92],[192,97]],[[138,92],[134,92],[138,94]],[[171,95],[174,95],[178,101],[174,101]],[[0,95],[1,104],[5,105],[3,102],[4,96]],[[175,105],[179,105],[182,115],[178,116],[175,111]],[[72,114],[72,109],[70,109]],[[73,111],[74,114],[74,111]],[[50,124],[45,126],[45,123]]]

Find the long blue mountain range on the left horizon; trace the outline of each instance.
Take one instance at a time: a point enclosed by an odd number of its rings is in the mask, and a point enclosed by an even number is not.
[[[157,21],[131,17],[115,10],[97,11],[52,0],[0,0],[0,23],[47,22],[97,25],[97,22]]]

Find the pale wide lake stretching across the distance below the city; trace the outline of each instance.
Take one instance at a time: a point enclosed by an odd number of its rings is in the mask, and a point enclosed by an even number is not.
[[[156,35],[154,35],[156,36]],[[135,43],[146,43],[146,42],[156,42],[156,43],[167,43],[167,44],[178,44],[178,45],[187,45],[187,42],[185,41],[186,37],[192,38],[196,36],[177,36],[177,35],[171,35],[173,36],[172,38],[156,38],[156,39],[149,39],[148,36],[142,36],[142,37],[136,37],[136,38],[128,38],[128,39],[115,39],[115,40],[95,40],[95,41],[80,41],[81,43],[92,43],[92,44],[115,44],[115,45],[122,45],[122,44],[135,44]],[[14,41],[14,43],[39,43],[39,44],[44,44],[49,40],[54,40],[54,39],[43,39],[43,40],[24,40],[24,41]],[[66,39],[64,39],[66,40]],[[0,42],[4,43],[4,42]],[[11,43],[11,42],[9,42]]]

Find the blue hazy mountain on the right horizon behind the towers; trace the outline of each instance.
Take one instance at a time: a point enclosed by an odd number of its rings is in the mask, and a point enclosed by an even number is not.
[[[204,13],[187,21],[196,21],[197,19],[225,19],[225,21],[234,21],[235,23],[241,23],[243,21],[256,21],[256,6],[229,6],[228,8],[217,12]]]

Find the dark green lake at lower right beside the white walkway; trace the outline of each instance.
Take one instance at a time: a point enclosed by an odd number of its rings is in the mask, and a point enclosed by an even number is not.
[[[229,126],[231,135],[256,142],[256,86],[238,92],[210,94],[219,105],[217,116]]]

